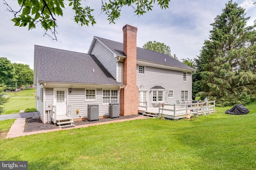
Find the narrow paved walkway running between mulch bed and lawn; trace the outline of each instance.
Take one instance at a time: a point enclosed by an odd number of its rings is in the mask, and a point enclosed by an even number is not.
[[[34,131],[34,132],[26,132],[24,133],[24,126],[26,118],[18,118],[16,121],[14,121],[14,124],[10,128],[10,131],[7,133],[6,138],[14,138],[14,137],[20,137],[20,136],[26,136],[26,135],[34,135],[38,133],[47,133],[47,132],[54,132],[54,131],[62,131],[62,130],[68,130],[68,129],[76,129],[81,127],[89,127],[89,126],[96,126],[96,125],[103,125],[108,123],[116,123],[116,122],[123,122],[123,121],[130,121],[130,120],[136,120],[136,119],[147,119],[146,117],[134,117],[130,119],[120,119],[120,120],[114,120],[114,121],[106,121],[106,122],[99,122],[99,123],[92,123],[87,125],[78,125],[78,126],[72,126],[68,128],[62,129],[61,127],[58,129],[50,129],[50,130],[42,130],[42,131]]]

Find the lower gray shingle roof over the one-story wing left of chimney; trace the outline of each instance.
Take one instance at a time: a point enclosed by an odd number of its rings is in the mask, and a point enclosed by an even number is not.
[[[122,85],[94,55],[35,45],[38,82]]]

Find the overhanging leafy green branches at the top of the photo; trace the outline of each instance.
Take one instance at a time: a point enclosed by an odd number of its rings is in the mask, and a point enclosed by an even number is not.
[[[28,29],[35,29],[38,23],[44,29],[44,35],[50,36],[53,40],[57,40],[56,31],[57,20],[55,16],[63,16],[63,9],[66,6],[72,6],[74,10],[74,21],[79,25],[94,25],[95,18],[92,15],[94,9],[90,6],[82,7],[81,0],[18,0],[18,10],[13,8],[4,0],[7,6],[7,11],[14,14],[15,26],[27,27]],[[153,4],[157,2],[162,9],[168,8],[170,0],[102,0],[102,12],[104,12],[110,23],[120,18],[121,9],[123,6],[131,6],[133,12],[141,16],[148,11],[151,11]],[[48,33],[50,31],[50,33]]]

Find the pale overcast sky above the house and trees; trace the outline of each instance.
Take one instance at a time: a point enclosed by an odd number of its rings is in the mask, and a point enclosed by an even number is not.
[[[251,17],[248,25],[256,20],[256,0],[236,0],[246,8],[246,17]],[[143,16],[134,16],[132,8],[122,8],[121,17],[109,24],[106,15],[101,14],[101,0],[86,0],[95,9],[92,13],[96,25],[80,26],[72,18],[71,8],[64,10],[63,17],[56,17],[58,24],[58,41],[43,37],[44,30],[40,25],[28,31],[28,27],[16,27],[10,21],[13,14],[6,11],[6,6],[0,5],[0,57],[6,57],[12,63],[29,64],[34,67],[34,45],[42,45],[57,49],[65,49],[88,53],[94,36],[123,42],[122,27],[126,24],[138,28],[137,46],[142,47],[148,41],[158,41],[168,45],[171,53],[179,60],[193,59],[200,54],[204,40],[209,38],[212,29],[210,23],[222,13],[228,0],[172,0],[169,8],[162,10],[159,6]],[[18,8],[16,0],[6,0],[14,9]]]

